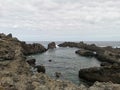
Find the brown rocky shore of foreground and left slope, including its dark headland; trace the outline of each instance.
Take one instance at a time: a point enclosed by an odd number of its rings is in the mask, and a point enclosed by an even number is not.
[[[55,46],[54,44],[52,45]],[[100,48],[96,47],[96,52],[97,49]],[[51,79],[42,71],[33,73],[30,63],[34,63],[35,61],[29,61],[28,63],[25,55],[43,53],[46,50],[47,49],[41,44],[26,44],[12,37],[12,34],[0,34],[0,90],[120,90],[120,85],[113,84],[112,82],[96,82],[91,87],[86,87],[82,84],[77,86],[69,81]],[[102,50],[100,49],[100,52],[102,52]],[[116,51],[114,49],[109,50],[111,52]],[[119,50],[117,50],[116,53],[118,51]],[[119,57],[119,55],[117,55],[117,57]],[[119,63],[117,60],[113,59],[113,61]],[[108,68],[108,66],[105,67]],[[114,71],[118,73],[119,68],[116,67],[118,67],[118,65],[114,64]],[[113,65],[111,65],[111,68],[113,69]],[[87,73],[88,71],[83,70],[82,72]],[[106,71],[110,72],[107,69]],[[94,73],[92,74],[94,76]]]

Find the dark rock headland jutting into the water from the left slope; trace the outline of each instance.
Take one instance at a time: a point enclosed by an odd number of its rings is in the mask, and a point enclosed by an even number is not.
[[[21,46],[25,55],[43,53],[47,50],[44,46],[42,46],[39,43],[26,44],[25,42],[21,42]]]

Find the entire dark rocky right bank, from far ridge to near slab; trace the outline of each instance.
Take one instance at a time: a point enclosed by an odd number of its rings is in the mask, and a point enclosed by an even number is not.
[[[95,57],[101,61],[101,67],[81,69],[79,77],[90,82],[100,81],[120,84],[120,48],[98,47],[83,42],[64,42],[60,47],[76,47],[75,53],[85,57]]]

